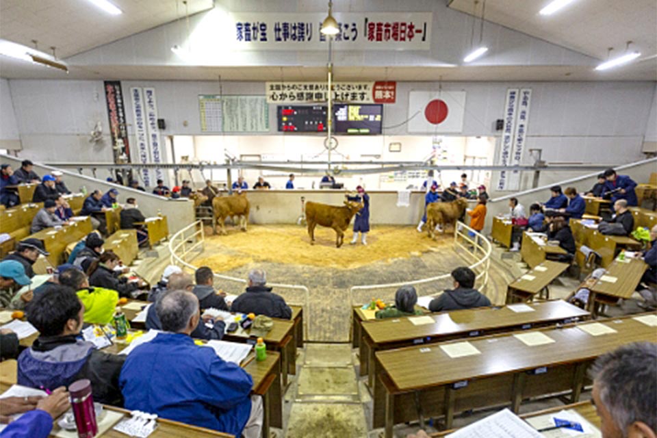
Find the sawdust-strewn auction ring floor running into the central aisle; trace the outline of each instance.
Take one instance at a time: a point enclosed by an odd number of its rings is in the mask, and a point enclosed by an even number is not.
[[[414,227],[372,227],[368,245],[349,244],[335,248],[335,232],[318,227],[315,245],[305,227],[296,225],[251,225],[246,233],[227,227],[228,235],[206,233],[205,250],[192,261],[214,272],[246,279],[248,271],[263,268],[268,282],[305,285],[309,288],[308,339],[319,342],[347,342],[350,330],[350,287],[396,283],[451,272],[469,263],[457,255],[453,236],[430,240]],[[418,295],[438,294],[450,281],[417,287]],[[218,281],[227,293],[238,293],[242,285]],[[302,293],[277,289],[289,302],[302,303]],[[366,292],[377,298],[391,298],[394,289]],[[363,296],[357,297],[363,298]]]

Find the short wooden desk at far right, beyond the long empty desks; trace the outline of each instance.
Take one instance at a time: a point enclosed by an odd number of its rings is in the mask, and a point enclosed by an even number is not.
[[[619,299],[630,298],[647,268],[647,264],[641,259],[628,259],[627,262],[616,260],[611,263],[604,278],[615,281],[600,279],[595,282],[589,292],[587,310],[595,318],[599,305],[615,305]]]

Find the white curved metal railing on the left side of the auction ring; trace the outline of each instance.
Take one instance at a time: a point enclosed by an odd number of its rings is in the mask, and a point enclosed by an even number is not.
[[[201,255],[205,250],[205,231],[203,222],[197,220],[187,227],[179,230],[169,239],[169,253],[171,263],[177,266],[185,267],[196,271],[197,266],[192,265],[190,261],[194,257]],[[216,279],[232,283],[246,285],[245,279],[238,279],[234,276],[214,274]],[[276,288],[276,294],[285,298],[285,301],[291,305],[300,305],[305,313],[303,318],[303,337],[308,339],[308,320],[309,320],[309,296],[310,292],[304,285],[285,285],[281,283],[267,283],[270,287]]]

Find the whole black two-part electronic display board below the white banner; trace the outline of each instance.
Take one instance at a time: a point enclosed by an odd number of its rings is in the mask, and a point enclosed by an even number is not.
[[[279,132],[326,132],[325,105],[279,105]],[[333,131],[337,134],[381,134],[383,105],[337,103],[333,107]]]

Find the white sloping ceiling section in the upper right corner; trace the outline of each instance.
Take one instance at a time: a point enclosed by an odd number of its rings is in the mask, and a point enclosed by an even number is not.
[[[452,0],[449,6],[472,14],[474,1]],[[656,0],[575,0],[550,16],[539,15],[550,1],[489,0],[485,18],[600,60],[606,59],[608,47],[618,55],[630,40],[642,57],[657,55]],[[481,10],[479,0],[477,16]]]

